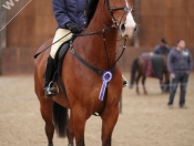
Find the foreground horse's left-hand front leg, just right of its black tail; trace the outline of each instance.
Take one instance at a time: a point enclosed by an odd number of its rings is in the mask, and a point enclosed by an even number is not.
[[[81,106],[74,106],[72,108],[72,117],[73,117],[73,131],[76,146],[85,146],[84,129],[85,129],[86,116],[84,108]]]

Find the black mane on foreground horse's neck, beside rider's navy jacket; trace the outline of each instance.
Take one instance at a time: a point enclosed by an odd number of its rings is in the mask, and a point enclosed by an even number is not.
[[[85,10],[88,25],[91,22],[93,15],[95,13],[98,3],[99,3],[99,0],[88,0],[88,6],[86,6],[86,10]]]

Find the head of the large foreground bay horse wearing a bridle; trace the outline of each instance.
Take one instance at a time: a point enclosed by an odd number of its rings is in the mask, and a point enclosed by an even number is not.
[[[119,27],[122,38],[132,38],[136,31],[136,23],[133,19],[133,2],[132,0],[105,0],[108,14],[111,15],[111,21]]]

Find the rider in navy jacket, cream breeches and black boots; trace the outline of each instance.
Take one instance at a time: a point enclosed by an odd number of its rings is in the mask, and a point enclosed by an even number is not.
[[[62,43],[69,41],[73,33],[80,33],[85,29],[84,24],[86,19],[84,10],[86,8],[86,1],[88,0],[52,0],[53,12],[58,22],[53,43],[68,33],[69,35],[51,48],[44,75],[44,91],[47,97],[51,97],[58,93],[57,87],[49,85],[54,73],[54,58],[58,49]]]

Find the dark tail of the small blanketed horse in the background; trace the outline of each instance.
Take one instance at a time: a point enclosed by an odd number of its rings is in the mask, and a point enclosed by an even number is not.
[[[135,73],[137,70],[137,63],[139,63],[139,58],[134,59],[133,64],[132,64],[130,88],[133,88],[133,84],[135,81]]]

